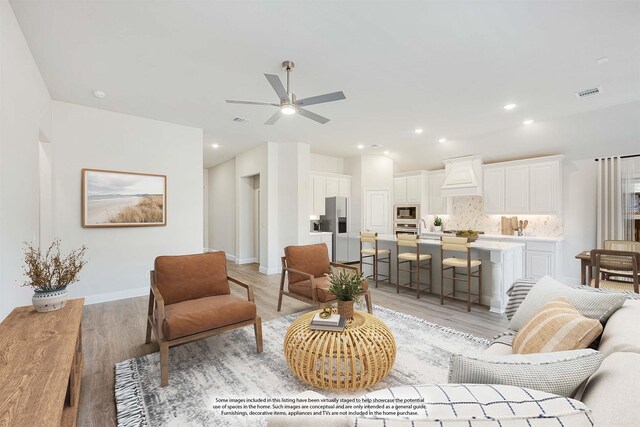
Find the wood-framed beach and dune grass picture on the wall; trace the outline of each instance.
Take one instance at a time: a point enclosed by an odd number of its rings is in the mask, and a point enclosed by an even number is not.
[[[83,227],[167,225],[167,177],[82,169]]]

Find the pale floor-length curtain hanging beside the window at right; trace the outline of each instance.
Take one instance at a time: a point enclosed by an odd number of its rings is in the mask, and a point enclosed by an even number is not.
[[[598,159],[596,244],[605,240],[625,240],[623,215],[622,159]]]

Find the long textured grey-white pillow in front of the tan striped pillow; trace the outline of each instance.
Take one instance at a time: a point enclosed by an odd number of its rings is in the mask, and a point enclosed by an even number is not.
[[[507,356],[453,354],[449,383],[506,384],[573,397],[603,358],[592,349]]]

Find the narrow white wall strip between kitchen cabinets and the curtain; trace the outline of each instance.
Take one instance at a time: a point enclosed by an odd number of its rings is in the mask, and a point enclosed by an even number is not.
[[[596,182],[598,167],[593,158],[565,160],[562,206],[564,216],[563,274],[568,283],[580,282],[581,251],[596,247]]]

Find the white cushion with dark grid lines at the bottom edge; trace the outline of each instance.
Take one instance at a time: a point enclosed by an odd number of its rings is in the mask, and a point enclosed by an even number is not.
[[[354,427],[593,427],[591,411],[577,400],[537,390],[487,384],[427,384],[368,393],[368,399],[422,400],[410,417],[355,418]]]

